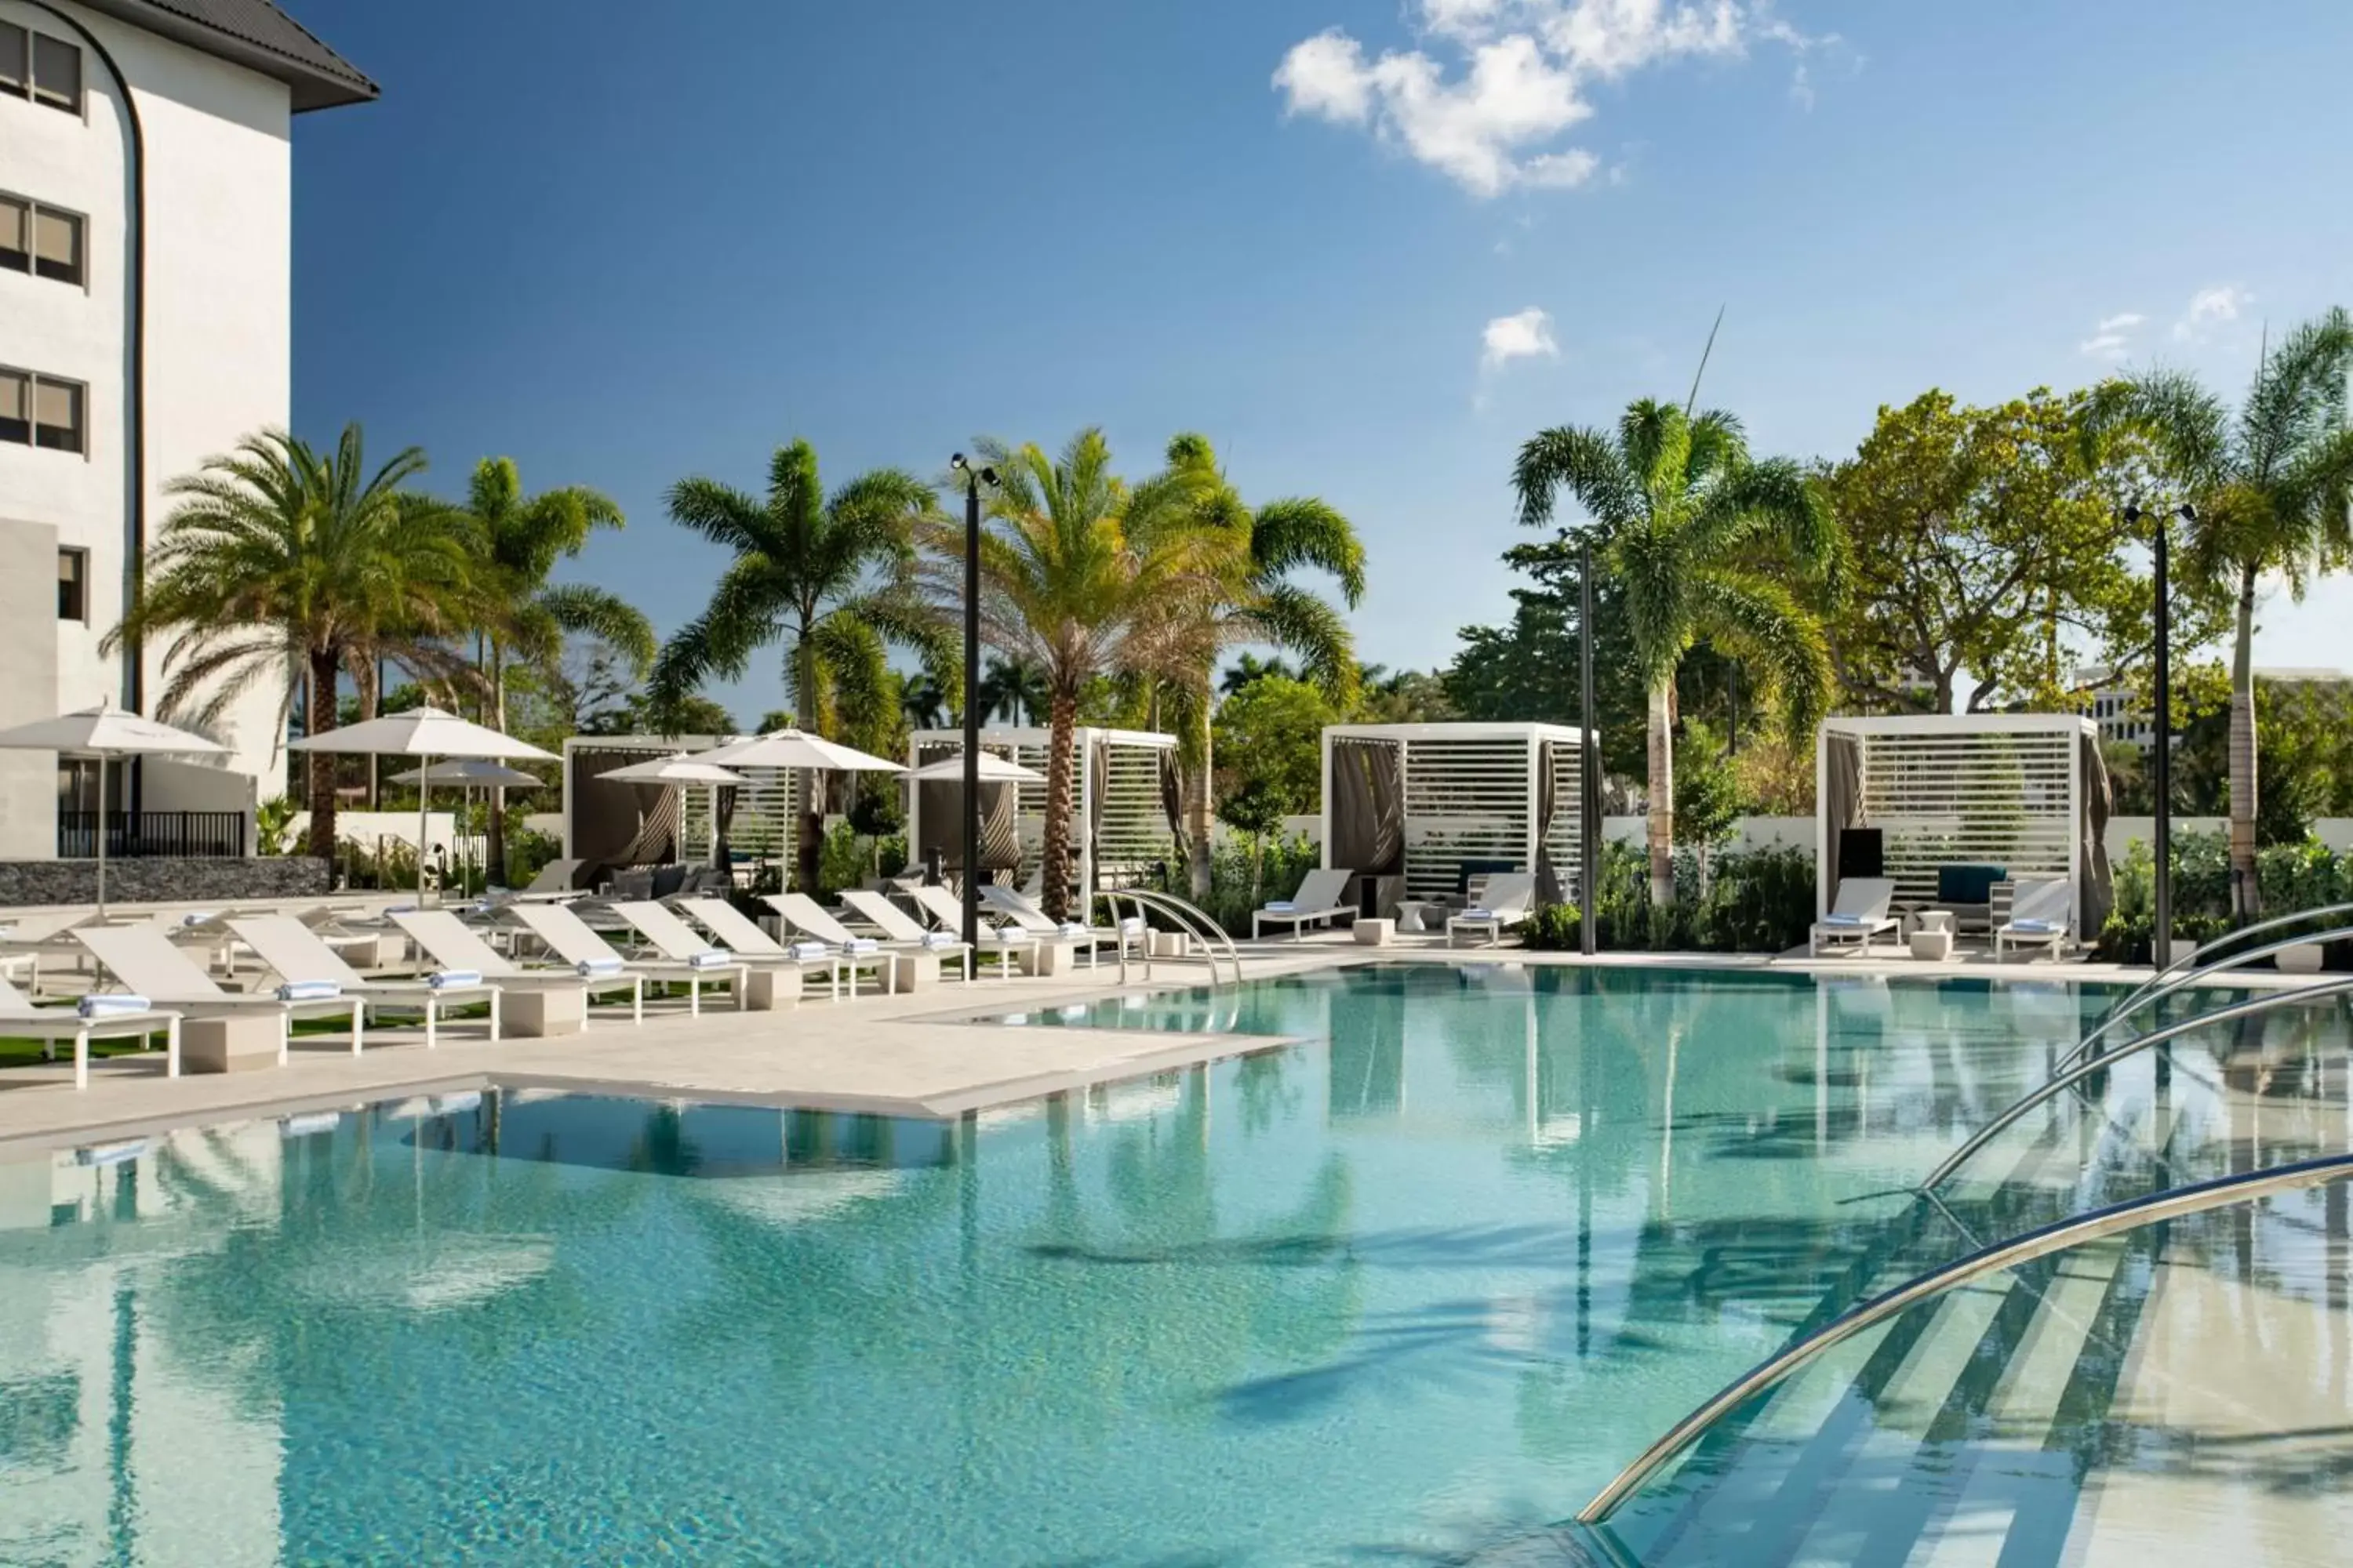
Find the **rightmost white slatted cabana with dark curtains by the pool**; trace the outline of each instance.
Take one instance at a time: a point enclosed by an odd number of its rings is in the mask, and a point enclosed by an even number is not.
[[[2080,940],[2113,903],[2108,769],[2099,724],[2073,712],[1918,712],[1824,719],[1814,741],[1817,917],[1840,872],[1892,877],[1934,903],[1946,865],[2066,877]]]

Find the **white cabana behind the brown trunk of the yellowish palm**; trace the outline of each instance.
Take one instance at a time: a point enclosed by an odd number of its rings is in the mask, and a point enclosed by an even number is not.
[[[1071,858],[1078,863],[1078,896],[1085,910],[1101,889],[1127,886],[1158,860],[1169,858],[1176,813],[1176,736],[1144,729],[1080,726],[1071,748],[1078,771],[1071,813]],[[1054,733],[1035,726],[981,729],[981,755],[1005,757],[1033,778],[981,785],[981,872],[1007,875],[1026,886],[1045,849],[1047,748]],[[965,731],[918,729],[906,745],[918,773],[906,809],[906,853],[922,860],[939,851],[953,875],[962,870],[962,778],[927,776],[925,769],[962,757]]]

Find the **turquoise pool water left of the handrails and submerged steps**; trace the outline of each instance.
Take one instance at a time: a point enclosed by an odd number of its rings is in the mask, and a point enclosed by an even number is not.
[[[1447,1561],[2104,1001],[1388,966],[1056,1016],[1315,1044],[951,1126],[504,1091],[0,1166],[0,1561]]]

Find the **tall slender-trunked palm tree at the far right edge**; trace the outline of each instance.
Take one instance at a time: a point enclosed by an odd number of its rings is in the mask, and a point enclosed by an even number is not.
[[[2146,433],[2191,503],[2186,567],[2238,595],[2231,637],[2231,910],[2261,914],[2254,879],[2254,590],[2266,571],[2294,595],[2353,550],[2346,503],[2353,489],[2353,430],[2346,430],[2346,371],[2353,317],[2344,310],[2304,322],[2266,350],[2254,386],[2233,416],[2186,371],[2111,381],[2092,395],[2092,425],[2129,423]]]

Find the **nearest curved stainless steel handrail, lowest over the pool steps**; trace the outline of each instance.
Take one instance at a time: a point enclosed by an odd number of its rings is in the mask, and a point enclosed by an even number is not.
[[[2111,1204],[2108,1208],[2094,1208],[2092,1213],[2071,1215],[2066,1220],[2052,1220],[2049,1225],[2028,1229],[2007,1241],[1995,1241],[1984,1246],[1967,1258],[1948,1262],[1944,1267],[1906,1279],[1904,1284],[1873,1295],[1871,1300],[1847,1309],[1845,1314],[1831,1319],[1812,1335],[1798,1340],[1788,1349],[1760,1361],[1751,1371],[1741,1373],[1734,1382],[1727,1382],[1708,1403],[1699,1406],[1680,1422],[1675,1422],[1657,1443],[1645,1448],[1633,1465],[1621,1469],[1609,1486],[1605,1486],[1593,1502],[1588,1502],[1577,1514],[1577,1523],[1598,1526],[1619,1509],[1626,1497],[1638,1493],[1659,1469],[1689,1448],[1706,1434],[1720,1418],[1737,1410],[1741,1403],[1774,1387],[1791,1373],[1805,1368],[1826,1349],[1852,1340],[1866,1328],[1887,1321],[1889,1316],[1904,1312],[1906,1307],[1922,1302],[1932,1295],[1941,1295],[1953,1286],[1965,1286],[1972,1279],[1984,1279],[1986,1274],[2000,1274],[2002,1269],[2017,1267],[2021,1262],[2033,1262],[2049,1253],[2066,1251],[2071,1246],[2082,1246],[2085,1241],[2099,1241],[2101,1237],[2113,1237],[2127,1229],[2139,1229],[2144,1225],[2155,1225],[2160,1220],[2174,1220],[2186,1213],[2202,1213],[2207,1208],[2226,1208],[2231,1204],[2245,1204],[2249,1199],[2268,1197],[2273,1192],[2294,1192],[2299,1187],[2320,1187],[2325,1182],[2344,1180],[2353,1175],[2353,1154],[2325,1154],[2320,1159],[2304,1159],[2292,1166],[2273,1166],[2268,1171],[2240,1171],[2238,1175],[2217,1175],[2205,1182],[2191,1182],[2188,1187],[2172,1187],[2169,1192],[2155,1192],[2151,1197],[2139,1197],[2125,1204]]]

